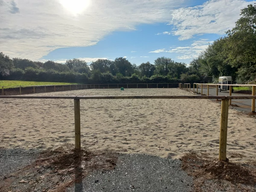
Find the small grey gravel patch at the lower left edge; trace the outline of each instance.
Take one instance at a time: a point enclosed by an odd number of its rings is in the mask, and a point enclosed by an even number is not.
[[[0,178],[35,161],[38,149],[0,148]]]

